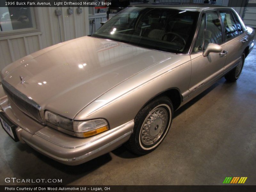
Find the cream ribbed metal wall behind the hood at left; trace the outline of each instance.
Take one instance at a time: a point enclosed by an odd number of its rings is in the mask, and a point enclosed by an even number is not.
[[[37,9],[40,32],[0,37],[0,69],[11,62],[45,47],[64,42],[76,37],[88,35],[88,7],[82,7],[81,14],[68,15],[67,7],[59,7],[62,15],[55,15],[56,7],[40,7]],[[60,25],[59,25],[60,23]]]

